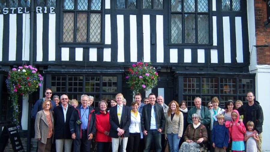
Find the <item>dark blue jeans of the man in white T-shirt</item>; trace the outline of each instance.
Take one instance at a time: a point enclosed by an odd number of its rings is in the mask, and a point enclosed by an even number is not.
[[[145,147],[143,152],[149,152],[152,140],[154,141],[156,152],[161,152],[161,133],[158,130],[148,130],[147,135],[143,137],[145,142]]]

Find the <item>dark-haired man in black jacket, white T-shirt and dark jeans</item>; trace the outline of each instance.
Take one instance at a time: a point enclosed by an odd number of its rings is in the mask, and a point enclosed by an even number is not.
[[[143,106],[141,127],[144,135],[144,152],[149,152],[152,140],[155,143],[156,152],[161,152],[161,132],[165,126],[163,107],[156,103],[154,93],[149,94],[150,104]]]

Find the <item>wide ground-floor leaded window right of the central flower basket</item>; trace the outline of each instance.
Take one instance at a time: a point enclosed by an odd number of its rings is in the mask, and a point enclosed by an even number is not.
[[[182,79],[183,100],[189,109],[194,106],[195,97],[202,99],[202,106],[207,106],[213,97],[217,97],[221,108],[224,108],[228,100],[247,102],[247,92],[255,89],[252,78],[182,77]]]

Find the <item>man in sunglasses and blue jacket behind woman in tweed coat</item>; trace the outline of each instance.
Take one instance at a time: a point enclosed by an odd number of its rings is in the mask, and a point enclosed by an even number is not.
[[[52,90],[49,88],[46,88],[45,90],[45,97],[43,97],[43,99],[39,99],[38,101],[36,101],[35,105],[33,106],[32,109],[32,119],[34,119],[34,121],[36,120],[36,115],[39,111],[42,110],[42,104],[45,100],[50,100],[51,101],[51,97],[52,97]],[[53,110],[56,105],[55,102],[51,102],[52,103],[52,108],[50,110]]]

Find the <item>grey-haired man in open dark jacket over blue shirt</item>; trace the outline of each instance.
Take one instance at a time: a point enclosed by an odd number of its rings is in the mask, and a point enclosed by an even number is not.
[[[91,143],[96,133],[95,110],[88,106],[89,96],[81,96],[81,104],[75,108],[70,118],[70,132],[73,152],[91,152]]]

